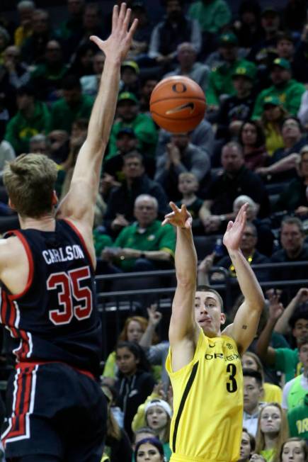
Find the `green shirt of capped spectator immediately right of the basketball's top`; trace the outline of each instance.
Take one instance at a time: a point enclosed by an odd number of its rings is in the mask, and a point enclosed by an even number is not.
[[[234,85],[232,75],[236,67],[256,67],[250,61],[247,60],[236,60],[231,65],[224,63],[218,67],[212,69],[209,77],[209,85],[205,92],[207,97],[207,104],[213,106],[219,106],[219,96],[222,94],[233,95]]]

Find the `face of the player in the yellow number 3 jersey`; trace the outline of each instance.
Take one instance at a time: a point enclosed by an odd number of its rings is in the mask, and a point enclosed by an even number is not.
[[[195,320],[207,337],[216,337],[219,334],[226,317],[215,293],[195,293]]]

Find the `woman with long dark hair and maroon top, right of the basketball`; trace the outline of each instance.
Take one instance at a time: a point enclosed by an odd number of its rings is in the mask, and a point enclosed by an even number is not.
[[[262,127],[255,120],[246,120],[241,125],[239,142],[243,147],[245,165],[251,170],[263,167],[268,159],[266,137]]]

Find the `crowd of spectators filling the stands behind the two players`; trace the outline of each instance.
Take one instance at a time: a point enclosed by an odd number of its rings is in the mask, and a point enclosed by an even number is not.
[[[176,234],[161,219],[169,201],[185,204],[198,242],[198,283],[232,281],[232,322],[239,287],[222,235],[249,203],[241,251],[249,264],[265,265],[255,272],[266,284],[266,307],[242,356],[239,461],[307,462],[308,1],[285,0],[276,9],[241,0],[234,12],[226,0],[161,0],[164,15],[156,23],[149,2],[126,2],[139,23],[122,63],[101,171],[93,225],[97,274],[173,269]],[[62,6],[62,22],[52,22],[35,0],[18,1],[15,22],[0,13],[1,233],[19,226],[1,180],[5,162],[46,154],[58,165],[60,200],[86,137],[105,60],[89,36],[108,37],[110,10],[101,1]],[[191,132],[168,133],[149,111],[154,86],[174,75],[190,77],[205,92],[205,118]],[[138,278],[135,288],[147,288],[145,281]],[[164,278],[157,281],[164,287]],[[105,288],[124,290],[123,284]],[[161,312],[155,306],[146,312],[147,318],[127,318],[105,361],[103,461],[171,456],[169,344],[157,336]]]

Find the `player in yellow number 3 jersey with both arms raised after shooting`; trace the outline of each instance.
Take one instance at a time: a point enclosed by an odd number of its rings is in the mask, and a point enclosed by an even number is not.
[[[249,347],[263,310],[261,287],[239,243],[247,204],[230,221],[224,245],[244,295],[234,323],[225,322],[222,298],[211,288],[196,289],[197,257],[192,219],[171,203],[163,225],[177,228],[176,278],[166,360],[173,388],[170,446],[172,462],[233,462],[239,459],[243,378],[240,355]]]

